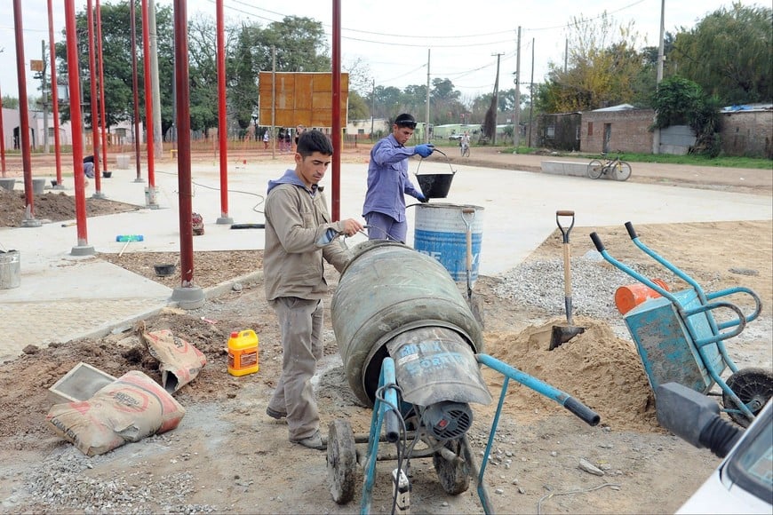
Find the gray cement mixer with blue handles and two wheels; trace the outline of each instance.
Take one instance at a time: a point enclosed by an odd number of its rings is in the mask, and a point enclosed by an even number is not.
[[[407,512],[410,459],[433,459],[443,490],[458,495],[476,478],[486,513],[492,512],[483,483],[485,465],[509,379],[555,400],[595,425],[600,417],[567,393],[483,352],[482,329],[450,273],[434,258],[398,242],[357,245],[332,298],[331,320],[347,381],[359,400],[373,406],[371,431],[355,437],[343,419],[330,424],[327,471],[333,500],[349,503],[364,469],[361,511],[371,511],[376,462],[396,460],[392,471],[393,512]],[[491,396],[480,366],[505,377],[501,398],[478,470],[466,433],[471,403]],[[379,454],[379,442],[396,446]],[[357,443],[367,442],[363,452]]]

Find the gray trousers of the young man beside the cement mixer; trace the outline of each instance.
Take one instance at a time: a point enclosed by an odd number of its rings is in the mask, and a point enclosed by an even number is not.
[[[313,436],[319,429],[311,378],[323,357],[323,303],[298,297],[271,302],[282,331],[282,374],[268,408],[287,414],[290,440]]]

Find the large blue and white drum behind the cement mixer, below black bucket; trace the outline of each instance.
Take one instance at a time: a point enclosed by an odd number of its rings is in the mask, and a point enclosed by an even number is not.
[[[440,261],[454,281],[467,280],[467,227],[462,214],[464,210],[474,210],[465,215],[472,233],[473,264],[470,280],[474,282],[478,278],[481,262],[483,208],[434,202],[417,204],[415,208],[413,247]]]

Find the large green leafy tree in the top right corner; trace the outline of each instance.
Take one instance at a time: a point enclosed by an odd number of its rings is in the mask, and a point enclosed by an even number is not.
[[[679,74],[725,104],[773,99],[773,10],[733,4],[676,36]]]

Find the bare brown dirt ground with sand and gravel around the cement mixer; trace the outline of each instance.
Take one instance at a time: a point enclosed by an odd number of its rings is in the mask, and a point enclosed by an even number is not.
[[[19,203],[6,197],[4,194],[0,199],[0,222],[20,216],[19,208],[14,207]],[[36,199],[37,218],[54,222],[72,218],[73,211],[62,207],[68,201],[61,197],[44,194],[39,201]],[[48,209],[44,206],[54,204],[61,206],[44,211]],[[116,204],[89,199],[89,215],[136,209]],[[773,337],[769,329],[773,304],[770,221],[637,229],[650,247],[666,250],[665,258],[693,274],[706,289],[742,285],[756,291],[763,302],[760,323],[767,329],[731,349],[731,355],[747,365],[759,366],[769,360]],[[626,263],[645,261],[640,250],[632,249],[622,227],[574,228],[583,234],[594,230],[603,235],[607,248],[615,249],[619,259]],[[573,244],[574,255],[591,250],[589,239],[582,240],[587,242]],[[560,256],[561,239],[553,234],[529,259]],[[99,258],[153,281],[171,281],[169,286],[179,280],[176,276],[155,275],[153,265],[160,261],[157,254],[124,253],[121,258]],[[173,261],[176,257],[165,258]],[[260,251],[195,252],[199,285],[207,288],[242,277],[253,272],[260,259]],[[330,270],[328,277],[332,292],[338,274]],[[486,472],[495,511],[675,511],[719,460],[657,426],[652,392],[630,339],[616,336],[609,321],[580,318],[576,322],[587,328],[586,333],[549,352],[546,330],[562,321],[562,313],[546,313],[533,305],[498,297],[495,289],[499,281],[497,277],[481,277],[474,290],[483,305],[486,352],[570,392],[594,408],[602,416],[602,423],[587,426],[552,401],[511,384]],[[367,434],[371,410],[363,407],[349,389],[331,330],[330,298],[325,305],[325,358],[316,384],[323,433],[332,420],[344,418],[355,433]],[[279,376],[282,351],[275,313],[267,306],[262,282],[245,281],[240,288],[208,299],[200,309],[167,309],[145,322],[148,330],[171,329],[208,360],[195,381],[175,394],[187,410],[179,428],[127,444],[105,456],[85,458],[47,427],[45,415],[51,406],[47,389],[79,361],[113,376],[140,370],[160,382],[158,362],[132,329],[98,340],[30,347],[18,359],[0,365],[0,408],[4,413],[0,420],[2,511],[359,511],[359,485],[353,503],[334,503],[328,492],[324,453],[291,444],[285,424],[264,413]],[[235,377],[227,374],[226,345],[229,333],[241,329],[254,329],[259,335],[260,368],[257,374]],[[473,405],[475,422],[468,434],[478,453],[474,456],[478,464],[502,387],[498,373],[486,368],[484,377],[495,401],[485,407]],[[382,449],[394,452],[386,444]],[[580,459],[594,464],[604,475],[581,470]],[[394,466],[394,462],[379,462],[377,466],[371,508],[374,512],[391,511],[389,472]],[[431,459],[412,460],[410,470],[413,511],[482,512],[474,486],[457,496],[442,491]]]

